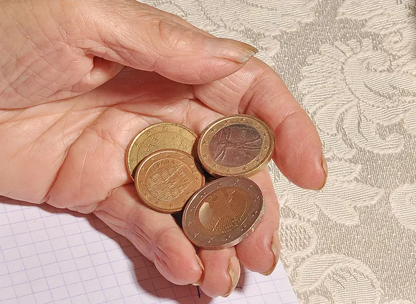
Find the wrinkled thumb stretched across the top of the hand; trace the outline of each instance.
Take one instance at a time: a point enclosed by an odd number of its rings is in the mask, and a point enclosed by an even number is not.
[[[78,47],[177,82],[201,84],[224,78],[257,53],[248,44],[213,37],[134,0],[87,1],[85,6],[80,20],[75,20]]]

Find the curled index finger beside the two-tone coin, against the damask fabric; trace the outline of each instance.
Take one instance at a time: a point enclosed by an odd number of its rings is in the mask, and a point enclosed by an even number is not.
[[[311,118],[269,66],[252,58],[226,78],[194,87],[196,98],[220,114],[249,114],[265,121],[275,136],[273,160],[302,188],[320,190],[327,162]]]

